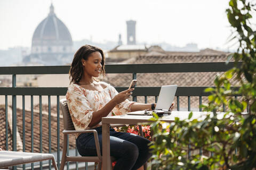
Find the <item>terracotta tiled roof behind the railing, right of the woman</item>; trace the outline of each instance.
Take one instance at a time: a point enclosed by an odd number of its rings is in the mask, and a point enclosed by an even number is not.
[[[151,63],[205,63],[226,62],[227,53],[174,53],[160,56],[138,56],[127,64],[151,64]],[[154,69],[154,68],[152,68]],[[196,73],[137,73],[138,87],[161,87],[168,84],[178,84],[180,87],[214,86],[215,75],[223,72],[196,72]],[[128,87],[132,80],[132,74],[107,74],[106,81],[113,86]],[[144,97],[137,97],[137,101],[144,103]],[[174,99],[176,102],[176,98]],[[155,97],[148,97],[148,103],[154,103]],[[191,97],[191,108],[199,108],[199,97]],[[207,97],[203,97],[203,103]],[[180,97],[180,108],[187,109],[188,97]]]

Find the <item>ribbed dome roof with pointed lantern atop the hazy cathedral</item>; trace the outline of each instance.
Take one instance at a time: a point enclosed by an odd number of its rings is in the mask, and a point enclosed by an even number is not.
[[[51,4],[50,13],[37,26],[33,38],[33,45],[45,44],[58,45],[72,45],[72,38],[66,25],[57,18],[54,13],[54,7]]]

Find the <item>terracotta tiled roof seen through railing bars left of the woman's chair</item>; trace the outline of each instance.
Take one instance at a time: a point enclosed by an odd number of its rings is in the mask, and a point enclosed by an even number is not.
[[[43,108],[46,108],[44,106]],[[54,111],[54,109],[53,109]],[[10,110],[8,111],[8,113]],[[60,111],[61,114],[61,111]],[[48,120],[48,113],[44,111],[42,114],[42,150],[44,153],[49,152],[49,120]],[[10,116],[9,116],[10,117]],[[40,152],[39,147],[39,113],[34,111],[34,152]],[[1,122],[1,129],[0,129],[0,147],[3,149],[5,148],[5,108],[2,106],[0,108],[0,122]],[[12,150],[12,124],[9,120],[9,129],[8,129],[8,139],[9,139],[9,150]],[[22,109],[17,108],[17,150],[22,151],[22,139],[23,139],[23,132],[22,132]],[[60,150],[62,150],[62,140],[63,140],[63,119],[60,116]],[[25,148],[27,152],[31,151],[31,112],[25,111]],[[69,136],[69,148],[75,148],[75,136]],[[51,112],[51,152],[57,151],[57,114],[56,112]]]

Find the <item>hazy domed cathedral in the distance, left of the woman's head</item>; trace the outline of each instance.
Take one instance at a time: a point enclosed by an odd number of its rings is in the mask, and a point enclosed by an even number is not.
[[[66,25],[57,18],[51,4],[50,13],[37,26],[31,45],[31,54],[23,58],[25,63],[62,65],[73,59],[73,41]]]

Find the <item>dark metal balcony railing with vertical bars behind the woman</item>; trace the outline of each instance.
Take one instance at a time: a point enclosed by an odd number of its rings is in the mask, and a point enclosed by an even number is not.
[[[122,65],[106,65],[106,73],[131,73],[132,79],[137,78],[137,73],[177,73],[177,72],[225,72],[231,69],[234,63],[166,63],[166,64],[122,64]],[[154,67],[154,69],[152,69]],[[31,96],[31,152],[34,148],[34,96],[39,96],[39,148],[42,152],[42,96],[48,96],[48,112],[49,112],[49,153],[51,153],[51,96],[57,96],[57,164],[60,167],[60,96],[65,96],[67,88],[63,87],[16,87],[16,76],[18,74],[68,74],[70,66],[17,66],[17,67],[0,67],[0,74],[12,75],[12,87],[0,87],[0,95],[5,96],[5,138],[6,149],[8,149],[8,114],[7,100],[8,96],[12,96],[12,150],[17,150],[17,96],[22,96],[22,143],[23,151],[25,151],[25,96]],[[137,96],[144,96],[147,103],[148,96],[157,96],[161,87],[137,87],[133,92],[133,101],[137,101]],[[199,104],[202,104],[202,96],[209,96],[204,92],[207,87],[178,87],[175,96],[177,96],[177,109],[179,111],[179,97],[188,97],[188,111],[190,111],[190,96],[199,96]],[[116,87],[117,91],[123,91],[127,87]],[[223,106],[225,109],[225,106]],[[199,109],[201,111],[201,109]],[[76,155],[77,155],[76,150]],[[188,153],[189,154],[189,153]],[[76,164],[76,169],[78,169]],[[87,167],[87,166],[85,166]],[[14,167],[15,169],[16,167]],[[23,169],[25,170],[25,165]],[[34,164],[31,165],[34,168]],[[40,163],[40,169],[43,168]],[[49,161],[49,169],[51,169],[51,161]],[[69,167],[67,167],[69,169]]]

